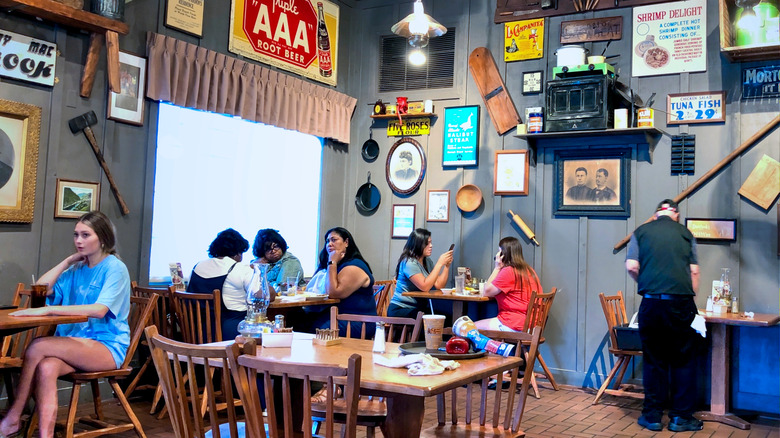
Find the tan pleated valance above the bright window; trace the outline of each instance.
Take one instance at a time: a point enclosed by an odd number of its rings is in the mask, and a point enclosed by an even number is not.
[[[146,51],[151,99],[349,143],[353,97],[153,32]]]

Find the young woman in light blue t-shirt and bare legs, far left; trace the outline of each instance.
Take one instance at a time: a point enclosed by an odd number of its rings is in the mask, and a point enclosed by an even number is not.
[[[55,336],[35,339],[27,348],[16,399],[0,422],[2,436],[19,432],[33,382],[40,435],[50,437],[57,419],[57,378],[74,371],[117,369],[125,360],[130,345],[130,276],[115,256],[114,227],[103,213],[89,212],[79,218],[73,243],[76,253],[38,281],[49,285],[47,305],[11,315],[83,315],[88,320],[60,325]]]

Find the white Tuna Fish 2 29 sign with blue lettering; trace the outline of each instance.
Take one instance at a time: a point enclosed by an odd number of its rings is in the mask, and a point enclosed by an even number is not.
[[[666,124],[726,121],[726,92],[678,93],[666,96]]]

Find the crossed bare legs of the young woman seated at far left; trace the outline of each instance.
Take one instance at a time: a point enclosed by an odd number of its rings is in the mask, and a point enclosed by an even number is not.
[[[108,348],[92,339],[45,337],[34,340],[25,353],[16,399],[0,422],[0,433],[9,435],[19,430],[22,411],[35,383],[40,436],[53,436],[57,419],[57,378],[75,370],[104,371],[114,368],[116,363]]]

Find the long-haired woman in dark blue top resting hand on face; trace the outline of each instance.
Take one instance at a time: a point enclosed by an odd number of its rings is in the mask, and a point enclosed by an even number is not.
[[[360,250],[349,231],[335,227],[325,233],[325,246],[320,251],[317,273],[324,271],[325,291],[330,298],[341,300],[336,305],[339,313],[376,315],[374,302],[374,276],[371,267],[360,254]],[[316,276],[317,274],[315,274]],[[320,312],[313,328],[330,328],[330,309]],[[366,336],[374,337],[374,326],[366,325]],[[347,323],[339,322],[341,336],[347,334]],[[352,336],[360,333],[360,324],[352,324]]]

